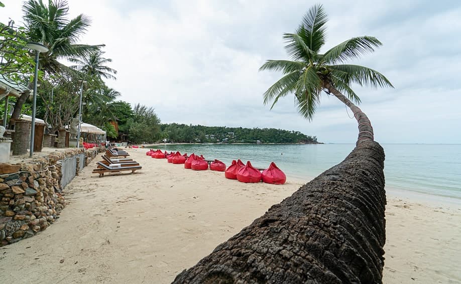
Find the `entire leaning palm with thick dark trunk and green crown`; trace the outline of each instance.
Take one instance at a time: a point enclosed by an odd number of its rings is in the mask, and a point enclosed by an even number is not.
[[[295,94],[299,112],[312,119],[321,91],[348,105],[359,121],[356,148],[341,163],[273,205],[218,245],[174,283],[381,283],[386,241],[384,151],[351,83],[392,86],[380,73],[342,61],[371,52],[373,37],[346,41],[324,54],[326,15],[313,7],[295,34],[285,34],[293,61],[268,61],[262,70],[285,76],[265,102]],[[345,93],[345,96],[342,93]]]

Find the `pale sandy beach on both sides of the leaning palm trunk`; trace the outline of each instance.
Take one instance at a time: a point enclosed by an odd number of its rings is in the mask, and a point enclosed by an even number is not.
[[[143,169],[65,189],[58,221],[0,248],[2,283],[168,283],[301,183],[244,184],[129,149]],[[461,208],[388,198],[385,283],[461,282]]]

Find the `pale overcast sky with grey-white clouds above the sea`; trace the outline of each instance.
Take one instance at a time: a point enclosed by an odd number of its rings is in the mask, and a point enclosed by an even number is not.
[[[19,0],[2,0],[0,21],[21,25]],[[45,1],[46,2],[46,1]],[[357,122],[322,95],[312,122],[293,96],[270,110],[262,94],[281,73],[258,72],[288,59],[309,1],[70,0],[70,14],[91,17],[84,44],[105,44],[118,70],[107,85],[120,99],[155,108],[164,123],[301,131],[326,143],[354,143]],[[356,36],[383,46],[353,62],[383,73],[395,89],[355,86],[381,143],[461,143],[461,2],[322,1],[329,15],[325,50]]]

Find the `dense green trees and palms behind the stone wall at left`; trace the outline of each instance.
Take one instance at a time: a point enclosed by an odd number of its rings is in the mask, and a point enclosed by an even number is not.
[[[0,3],[0,7],[3,5]],[[116,80],[112,60],[104,57],[104,44],[83,45],[79,38],[91,27],[83,14],[69,18],[67,1],[28,0],[23,6],[24,27],[14,21],[0,24],[0,73],[9,80],[32,88],[34,54],[29,41],[44,44],[49,51],[40,53],[39,88],[36,116],[47,123],[49,133],[70,124],[78,116],[82,95],[82,121],[104,129],[112,139],[125,136],[133,142],[154,142],[161,139],[160,119],[152,107],[131,106],[118,100],[121,93],[107,86]],[[70,62],[67,66],[62,60]],[[82,84],[80,80],[85,83]],[[12,118],[31,114],[30,92],[18,99]],[[4,100],[0,103],[3,116]]]

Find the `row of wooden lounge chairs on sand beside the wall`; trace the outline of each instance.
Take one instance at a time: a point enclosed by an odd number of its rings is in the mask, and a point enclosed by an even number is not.
[[[137,161],[133,161],[127,156],[130,155],[125,151],[109,148],[105,151],[105,155],[101,156],[102,161],[96,163],[97,168],[93,170],[93,173],[103,177],[104,173],[107,172],[131,171],[134,173],[136,170],[142,169]]]

